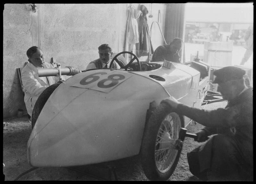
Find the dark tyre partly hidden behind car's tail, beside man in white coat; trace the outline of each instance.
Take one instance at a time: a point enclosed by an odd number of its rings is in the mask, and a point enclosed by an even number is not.
[[[46,101],[51,96],[51,94],[54,92],[54,90],[60,85],[61,83],[55,83],[46,88],[38,97],[36,104],[34,106],[32,117],[31,117],[31,127],[34,128],[37,118],[42,111],[43,107],[45,106]]]

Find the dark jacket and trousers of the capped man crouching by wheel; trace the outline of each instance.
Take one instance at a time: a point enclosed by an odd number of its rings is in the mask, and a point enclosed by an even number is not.
[[[193,171],[200,175],[205,172],[208,179],[216,177],[218,180],[221,174],[224,177],[229,172],[233,174],[234,180],[236,177],[253,180],[252,91],[253,88],[249,87],[235,99],[228,101],[225,108],[211,111],[178,104],[178,113],[206,126],[203,130],[207,135],[217,134],[188,153],[191,173]],[[225,139],[222,141],[217,136]],[[223,149],[219,149],[221,146],[224,146]],[[219,153],[218,150],[227,151]],[[198,159],[199,168],[193,168],[197,167],[195,159]]]

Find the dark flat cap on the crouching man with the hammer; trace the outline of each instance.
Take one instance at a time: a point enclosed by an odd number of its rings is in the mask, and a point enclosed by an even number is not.
[[[222,83],[230,80],[242,79],[244,74],[245,71],[241,68],[226,66],[213,72],[213,75],[216,77],[212,83]]]

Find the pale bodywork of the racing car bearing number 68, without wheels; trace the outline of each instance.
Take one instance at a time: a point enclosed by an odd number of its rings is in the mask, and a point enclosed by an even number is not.
[[[163,64],[163,63],[160,63]],[[28,141],[32,166],[74,166],[139,154],[147,110],[173,96],[201,104],[208,77],[172,63],[151,71],[95,69],[63,82],[45,103]],[[185,125],[190,119],[185,119]]]

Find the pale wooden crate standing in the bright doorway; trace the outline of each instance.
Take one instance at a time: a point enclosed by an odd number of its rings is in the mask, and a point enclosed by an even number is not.
[[[204,42],[203,61],[213,67],[232,65],[233,42]]]

